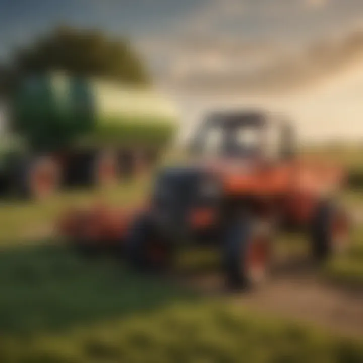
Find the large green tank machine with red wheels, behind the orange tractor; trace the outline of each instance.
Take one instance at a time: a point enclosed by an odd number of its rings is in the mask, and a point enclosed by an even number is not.
[[[157,161],[176,126],[172,105],[153,91],[99,79],[27,76],[7,98],[3,195],[42,198],[61,187],[105,186],[137,175]],[[13,138],[16,145],[8,145]]]

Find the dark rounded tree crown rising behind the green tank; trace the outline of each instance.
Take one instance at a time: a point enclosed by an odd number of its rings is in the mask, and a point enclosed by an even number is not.
[[[62,70],[82,76],[146,84],[147,72],[128,41],[98,30],[59,27],[14,54],[17,73]]]

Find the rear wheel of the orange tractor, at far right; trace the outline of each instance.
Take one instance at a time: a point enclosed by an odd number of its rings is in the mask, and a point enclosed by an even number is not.
[[[334,223],[337,218],[344,218],[346,223],[346,240],[337,240],[334,233]],[[343,236],[339,236],[341,239]],[[334,254],[344,252],[348,246],[349,220],[342,209],[331,201],[321,202],[312,221],[311,241],[313,256],[318,262],[322,262]]]

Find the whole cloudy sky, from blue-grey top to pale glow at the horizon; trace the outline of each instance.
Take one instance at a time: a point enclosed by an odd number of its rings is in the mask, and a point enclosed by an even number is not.
[[[221,101],[203,103],[191,85],[225,87],[233,102],[234,88],[238,106],[272,87],[275,98],[251,103],[291,115],[301,134],[363,137],[363,0],[0,0],[0,57],[58,24],[130,37],[156,82],[187,87],[177,98],[186,127]],[[322,75],[328,83],[286,92]]]

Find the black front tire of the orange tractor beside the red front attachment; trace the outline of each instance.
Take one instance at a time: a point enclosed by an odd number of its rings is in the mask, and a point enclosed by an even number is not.
[[[155,248],[161,252],[158,258],[152,254]],[[129,266],[140,272],[166,272],[172,267],[171,245],[157,235],[147,215],[137,218],[131,226],[125,253]]]

